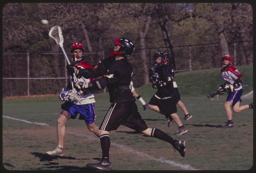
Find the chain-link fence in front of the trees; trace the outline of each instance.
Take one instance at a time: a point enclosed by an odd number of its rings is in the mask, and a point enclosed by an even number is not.
[[[167,52],[166,47],[147,48],[148,68],[153,64],[156,51]],[[252,41],[229,43],[234,65],[252,64]],[[220,67],[220,44],[174,46],[176,73]],[[170,52],[169,52],[170,53]],[[105,55],[104,55],[105,54]],[[95,64],[107,57],[108,52],[85,53],[85,61]],[[241,58],[244,57],[244,58]],[[141,68],[141,49],[128,57],[133,67],[134,87],[144,85],[145,72]],[[242,60],[243,59],[243,60]],[[93,60],[93,62],[91,62]],[[71,59],[70,59],[70,62]],[[63,53],[3,53],[3,97],[15,95],[59,94],[67,86],[66,59]],[[104,91],[97,91],[104,92]]]

